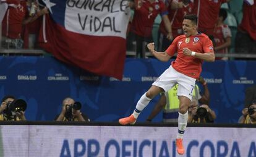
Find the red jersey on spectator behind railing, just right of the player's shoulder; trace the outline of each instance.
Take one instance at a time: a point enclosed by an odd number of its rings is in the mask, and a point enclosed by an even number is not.
[[[231,37],[232,35],[228,25],[220,25],[215,27],[213,36],[214,36],[214,41],[216,43],[216,46],[220,46],[225,43],[225,38]],[[228,48],[215,51],[215,53],[228,53]],[[216,59],[221,59],[221,57],[216,57]]]

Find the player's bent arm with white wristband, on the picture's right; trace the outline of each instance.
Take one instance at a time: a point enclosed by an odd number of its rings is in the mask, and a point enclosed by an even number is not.
[[[202,59],[203,61],[214,62],[215,54],[213,51],[213,43],[211,42],[211,40],[207,38],[205,41],[203,41],[202,45],[203,45],[203,51],[205,53],[198,53],[195,51],[191,51],[189,48],[184,48],[183,54],[186,56],[197,57],[198,59]]]

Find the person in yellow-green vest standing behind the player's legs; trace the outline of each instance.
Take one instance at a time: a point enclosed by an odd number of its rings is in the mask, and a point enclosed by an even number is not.
[[[201,95],[198,85],[195,85],[194,91],[192,92],[193,100],[196,101],[195,104],[208,104],[210,101],[210,93],[207,87],[207,82],[200,77],[197,82],[201,83],[204,88],[204,93]],[[155,108],[151,111],[150,116],[148,116],[147,121],[151,122],[152,119],[163,109],[163,122],[177,122],[177,117],[179,116],[179,99],[177,98],[177,87],[175,85],[167,93],[162,93],[160,100],[156,103]]]

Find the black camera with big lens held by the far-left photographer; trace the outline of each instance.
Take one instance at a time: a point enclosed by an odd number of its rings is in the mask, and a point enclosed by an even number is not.
[[[4,113],[6,114],[14,114],[15,112],[25,111],[27,109],[26,101],[22,99],[8,101],[6,104],[6,109],[4,109]]]

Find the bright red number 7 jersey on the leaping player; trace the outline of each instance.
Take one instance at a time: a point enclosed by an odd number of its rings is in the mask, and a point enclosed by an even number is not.
[[[198,78],[202,71],[202,59],[183,54],[183,48],[189,48],[197,53],[214,53],[213,43],[207,35],[198,33],[197,35],[186,37],[185,35],[177,36],[173,43],[166,50],[169,56],[173,56],[177,52],[175,61],[171,66],[178,72],[192,78]]]

